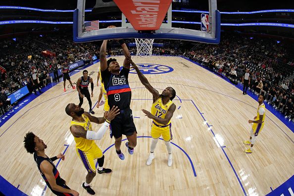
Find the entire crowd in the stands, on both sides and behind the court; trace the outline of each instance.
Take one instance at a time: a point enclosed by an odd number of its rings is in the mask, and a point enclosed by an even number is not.
[[[134,40],[126,40],[126,43]],[[239,34],[223,34],[221,43],[209,45],[191,44],[185,41],[155,40],[164,47],[153,47],[154,55],[182,55],[212,71],[228,77],[233,83],[242,82],[245,70],[250,73],[249,90],[256,95],[264,95],[266,101],[289,118],[294,119],[294,82],[289,76],[294,73],[293,47],[277,43],[269,38],[250,38]],[[117,41],[110,41],[110,55],[123,55]],[[109,48],[109,47],[108,47]],[[41,51],[55,52],[55,57],[45,57]],[[129,47],[136,55],[136,47]],[[0,89],[3,105],[7,95],[18,88],[31,87],[31,75],[35,71],[40,85],[49,81],[49,73],[62,64],[83,59],[85,63],[98,55],[95,43],[75,44],[70,35],[53,37],[30,36],[23,39],[0,41],[0,65],[7,73],[1,75]],[[292,56],[291,56],[292,54]],[[28,56],[32,55],[30,59]],[[6,96],[6,97],[5,97]],[[6,109],[6,108],[5,108]]]

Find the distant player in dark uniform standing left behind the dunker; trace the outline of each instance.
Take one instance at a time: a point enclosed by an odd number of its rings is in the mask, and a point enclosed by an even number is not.
[[[88,71],[84,70],[83,76],[81,78],[79,78],[77,81],[77,87],[78,87],[77,90],[79,92],[79,99],[80,99],[79,107],[82,106],[83,101],[84,101],[84,96],[85,96],[89,102],[89,106],[90,106],[89,112],[91,114],[95,114],[95,112],[92,110],[92,101],[91,101],[90,92],[88,89],[88,86],[90,83],[91,83],[91,91],[92,91],[91,97],[93,97],[93,90],[94,90],[93,79],[90,76],[88,76]]]

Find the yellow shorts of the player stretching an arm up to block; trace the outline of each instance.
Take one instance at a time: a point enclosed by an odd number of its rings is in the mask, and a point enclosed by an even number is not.
[[[151,137],[157,139],[160,138],[160,136],[162,136],[162,139],[166,142],[169,142],[173,139],[173,135],[171,132],[171,123],[169,125],[159,126],[152,122]]]

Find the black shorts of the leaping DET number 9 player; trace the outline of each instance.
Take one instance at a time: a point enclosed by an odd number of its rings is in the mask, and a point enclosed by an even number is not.
[[[110,138],[120,138],[122,135],[131,136],[136,130],[133,114],[130,108],[119,110],[119,114],[110,122]]]

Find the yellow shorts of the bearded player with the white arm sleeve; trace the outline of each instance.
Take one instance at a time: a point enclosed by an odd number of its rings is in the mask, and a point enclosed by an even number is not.
[[[85,168],[89,173],[96,172],[96,166],[94,163],[94,159],[101,158],[103,153],[101,149],[94,144],[89,150],[82,151],[79,148],[76,148],[77,154],[79,155],[80,159],[82,160]]]

